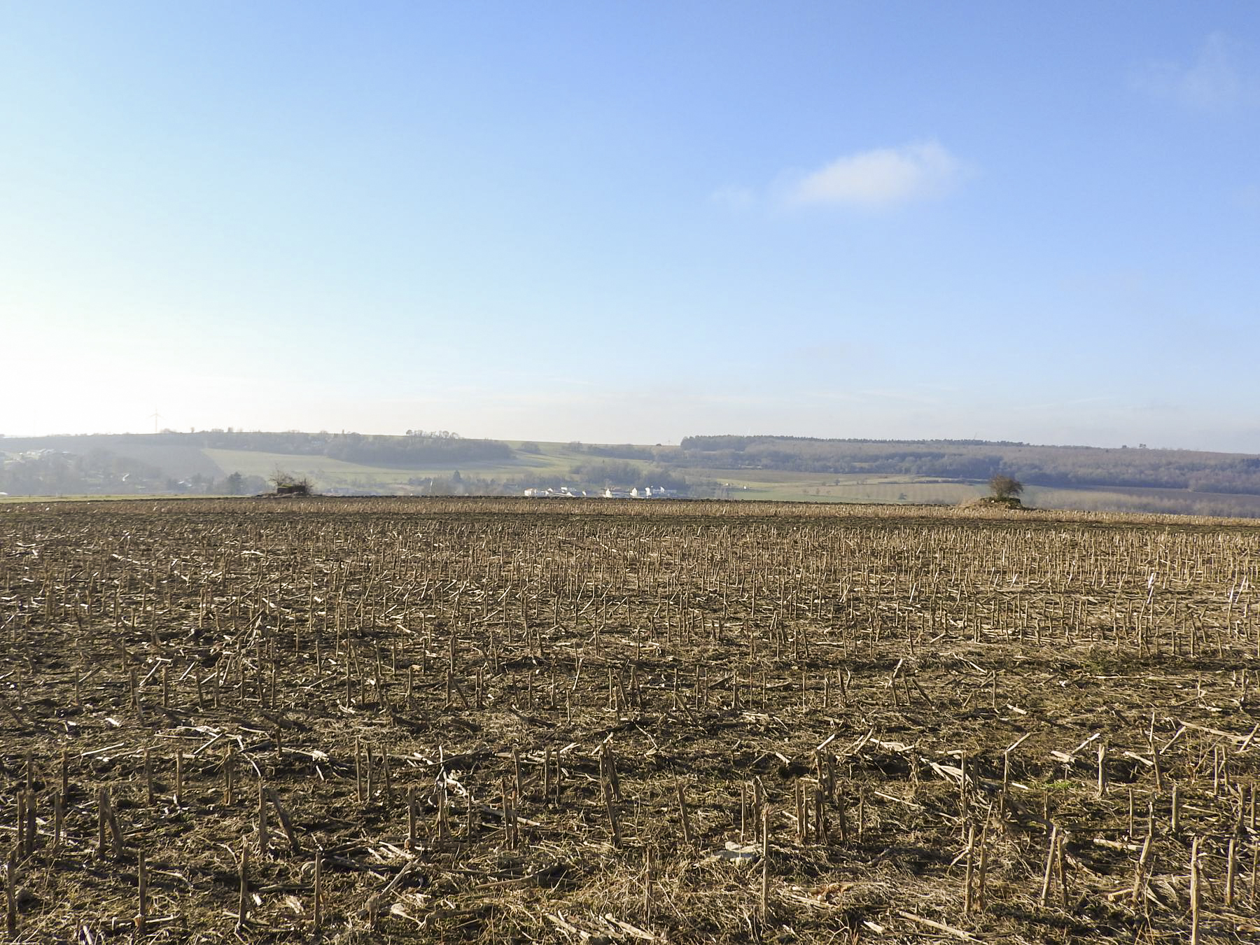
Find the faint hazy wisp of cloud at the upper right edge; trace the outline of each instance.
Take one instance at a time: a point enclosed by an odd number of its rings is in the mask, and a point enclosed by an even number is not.
[[[1223,33],[1205,39],[1189,63],[1147,63],[1134,71],[1130,84],[1200,111],[1223,112],[1260,105],[1260,66],[1254,50]]]

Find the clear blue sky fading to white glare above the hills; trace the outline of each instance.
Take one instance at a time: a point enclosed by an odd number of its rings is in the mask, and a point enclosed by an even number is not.
[[[1260,452],[1252,3],[6,3],[0,432]]]

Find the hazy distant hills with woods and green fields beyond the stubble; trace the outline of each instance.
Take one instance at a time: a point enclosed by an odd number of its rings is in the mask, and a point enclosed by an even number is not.
[[[1260,517],[1260,457],[982,441],[688,437],[679,446],[207,431],[0,438],[0,493],[257,493],[277,472],[333,494],[654,486],[694,498],[959,504],[994,472],[1040,508]]]

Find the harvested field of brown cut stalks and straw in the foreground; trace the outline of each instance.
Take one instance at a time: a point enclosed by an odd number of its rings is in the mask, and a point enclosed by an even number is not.
[[[1257,563],[1084,514],[4,505],[10,939],[1249,939]]]

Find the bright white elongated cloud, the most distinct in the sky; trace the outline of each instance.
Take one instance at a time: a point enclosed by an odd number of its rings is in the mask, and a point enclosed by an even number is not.
[[[878,209],[940,197],[963,176],[963,163],[936,141],[838,158],[793,180],[785,202],[793,205]]]

